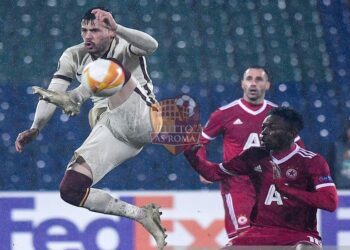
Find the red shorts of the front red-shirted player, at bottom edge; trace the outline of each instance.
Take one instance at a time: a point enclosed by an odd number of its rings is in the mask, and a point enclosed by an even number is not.
[[[305,243],[322,246],[321,238],[315,234],[281,227],[252,226],[244,233],[233,238],[233,246],[294,246]]]

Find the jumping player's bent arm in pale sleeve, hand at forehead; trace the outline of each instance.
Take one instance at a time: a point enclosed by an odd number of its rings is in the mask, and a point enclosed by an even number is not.
[[[115,31],[117,36],[129,42],[132,45],[131,51],[134,54],[145,56],[152,54],[158,48],[158,42],[152,36],[117,24],[111,13],[100,9],[95,9],[92,13],[95,14],[96,19],[105,22],[111,30]]]

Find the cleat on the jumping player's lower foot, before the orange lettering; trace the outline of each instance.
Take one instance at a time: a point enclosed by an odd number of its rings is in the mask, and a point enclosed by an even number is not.
[[[143,209],[146,210],[146,217],[139,222],[153,236],[158,249],[162,250],[167,244],[165,242],[167,235],[165,234],[165,228],[161,225],[159,208],[154,203],[144,206]]]

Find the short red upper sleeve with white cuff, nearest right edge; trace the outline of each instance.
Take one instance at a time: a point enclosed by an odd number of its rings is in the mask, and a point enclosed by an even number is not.
[[[315,190],[323,187],[335,187],[329,166],[321,155],[316,155],[310,160],[308,171]]]

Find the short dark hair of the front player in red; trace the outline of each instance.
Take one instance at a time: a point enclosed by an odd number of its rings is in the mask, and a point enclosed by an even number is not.
[[[277,107],[269,111],[267,115],[276,115],[283,118],[292,130],[299,133],[304,128],[304,120],[301,114],[289,107]]]

